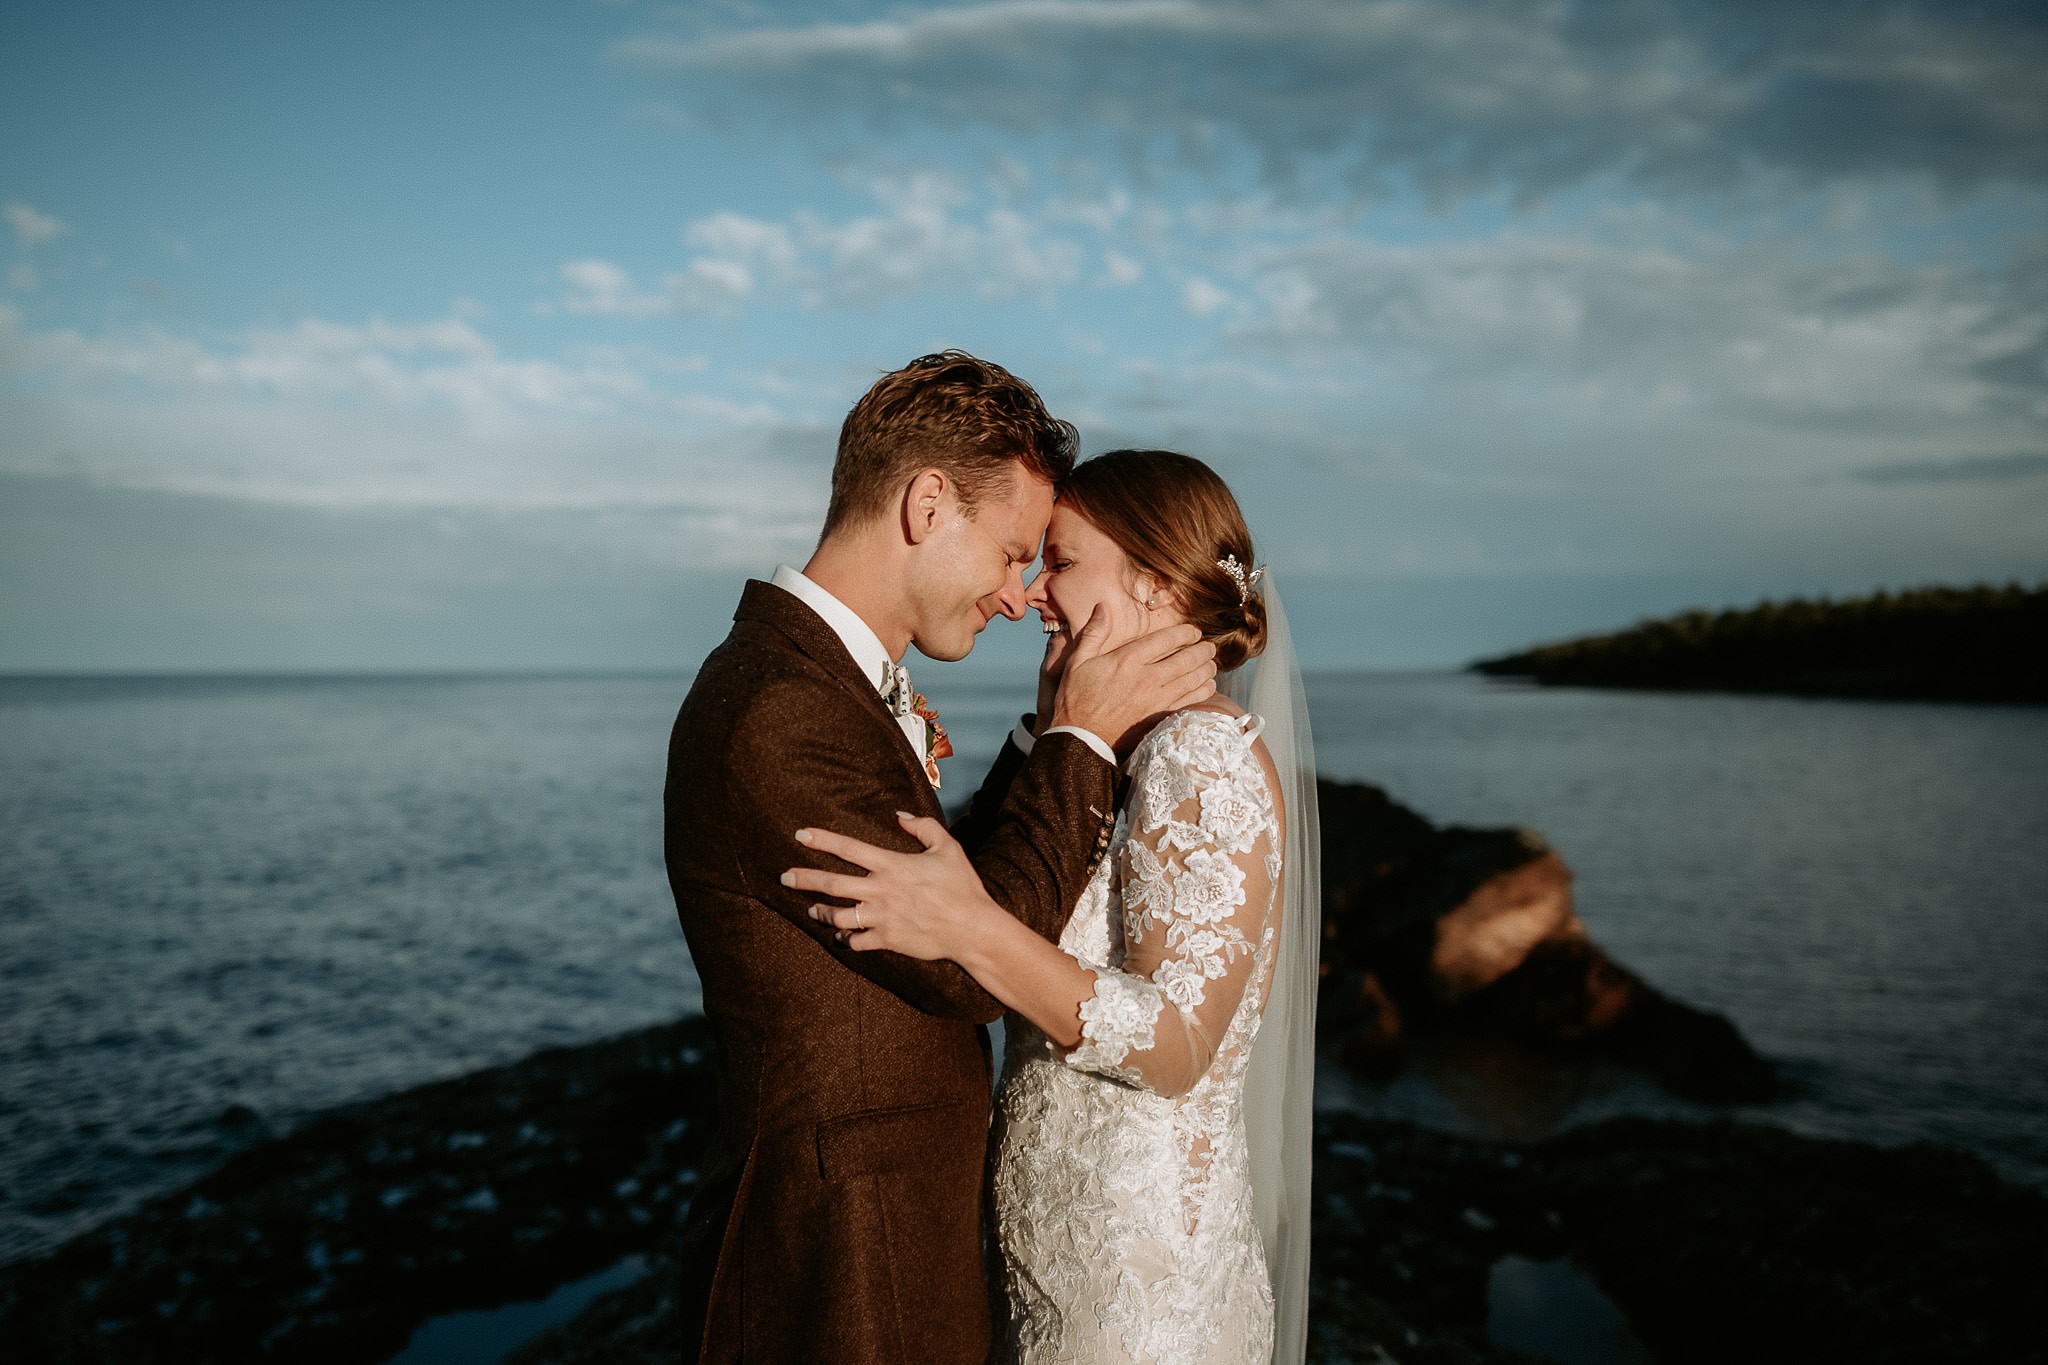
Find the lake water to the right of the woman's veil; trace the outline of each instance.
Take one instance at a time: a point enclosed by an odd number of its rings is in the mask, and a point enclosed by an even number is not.
[[[2048,1185],[2048,708],[1468,675],[1321,677],[1311,706],[1325,774],[1438,823],[1542,831],[1595,941],[1804,1089],[1753,1117],[1962,1146]],[[1700,1113],[1513,1068],[1358,1099],[1489,1136]]]

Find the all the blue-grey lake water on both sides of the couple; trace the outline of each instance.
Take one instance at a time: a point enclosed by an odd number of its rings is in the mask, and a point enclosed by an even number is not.
[[[965,796],[1028,684],[920,686]],[[684,690],[0,679],[0,1261],[328,1105],[694,1009],[659,845]],[[1544,831],[1602,943],[1802,1083],[1755,1117],[2048,1185],[2048,710],[1450,673],[1311,706],[1327,774]],[[1333,1099],[1481,1132],[1679,1109],[1495,1081]]]

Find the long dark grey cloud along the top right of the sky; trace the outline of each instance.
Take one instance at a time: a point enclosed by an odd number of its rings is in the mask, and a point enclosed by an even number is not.
[[[786,117],[1057,131],[1180,168],[1247,151],[1268,176],[1438,194],[1757,170],[2048,182],[2048,27],[2030,6],[995,0],[618,51]]]

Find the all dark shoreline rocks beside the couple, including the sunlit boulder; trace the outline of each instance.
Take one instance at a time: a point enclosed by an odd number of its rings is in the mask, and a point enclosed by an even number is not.
[[[1735,1025],[1608,958],[1522,829],[1440,829],[1321,784],[1327,1062],[1386,1078],[1436,1042],[1618,1064],[1702,1103],[1784,1091]],[[670,1246],[713,1124],[702,1019],[332,1111],[190,1187],[0,1267],[8,1359],[375,1365],[430,1318],[649,1273],[514,1353],[674,1361]],[[1503,1265],[1569,1263],[1667,1365],[2048,1363],[2048,1199],[1939,1148],[1616,1119],[1532,1144],[1323,1113],[1315,1361],[1513,1365]]]

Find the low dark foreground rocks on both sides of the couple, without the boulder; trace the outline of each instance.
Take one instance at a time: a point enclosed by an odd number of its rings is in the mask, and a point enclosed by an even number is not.
[[[428,1318],[651,1273],[520,1365],[674,1361],[666,1259],[709,1119],[700,1019],[336,1111],[0,1269],[25,1361],[371,1365]],[[2048,1199],[1939,1148],[1618,1119],[1536,1144],[1327,1113],[1315,1361],[1509,1365],[1489,1271],[1569,1257],[1657,1361],[2048,1361]]]

